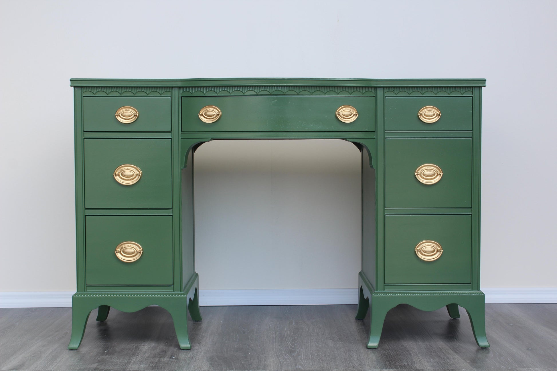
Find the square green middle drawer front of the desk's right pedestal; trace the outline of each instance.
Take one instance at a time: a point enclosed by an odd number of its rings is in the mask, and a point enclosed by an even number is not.
[[[441,169],[437,183],[418,180],[424,164]],[[385,207],[472,207],[472,139],[385,139]]]

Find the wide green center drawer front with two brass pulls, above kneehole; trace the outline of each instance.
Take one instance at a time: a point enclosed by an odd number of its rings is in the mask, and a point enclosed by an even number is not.
[[[204,123],[199,111],[217,106],[222,114]],[[341,106],[353,106],[357,118],[344,123],[336,117]],[[373,96],[231,96],[183,97],[183,131],[374,131]]]

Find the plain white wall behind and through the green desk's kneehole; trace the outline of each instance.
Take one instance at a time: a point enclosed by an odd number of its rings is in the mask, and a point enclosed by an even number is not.
[[[0,291],[75,290],[70,77],[485,77],[482,286],[557,287],[556,11],[553,0],[0,2]],[[358,154],[307,145],[199,149],[202,289],[356,286]],[[283,271],[282,249],[304,265]]]

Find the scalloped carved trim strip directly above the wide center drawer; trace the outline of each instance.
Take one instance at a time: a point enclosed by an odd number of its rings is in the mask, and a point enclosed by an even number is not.
[[[181,87],[182,96],[203,95],[344,95],[374,96],[375,87],[357,86],[199,86]]]

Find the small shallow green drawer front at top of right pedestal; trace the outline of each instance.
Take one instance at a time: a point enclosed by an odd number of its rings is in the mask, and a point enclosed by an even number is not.
[[[426,106],[441,112],[434,123],[424,123],[418,117]],[[472,130],[472,97],[386,97],[385,130]]]

